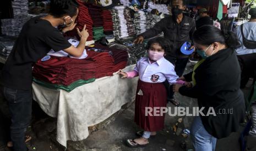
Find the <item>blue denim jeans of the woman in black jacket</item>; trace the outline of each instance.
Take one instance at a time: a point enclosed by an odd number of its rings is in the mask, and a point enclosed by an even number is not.
[[[195,117],[190,135],[192,137],[195,151],[214,151],[217,138],[208,133],[201,121],[200,117]]]

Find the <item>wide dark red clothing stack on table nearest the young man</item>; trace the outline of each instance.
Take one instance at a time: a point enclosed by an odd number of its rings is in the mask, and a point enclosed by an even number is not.
[[[80,79],[95,78],[95,69],[96,64],[91,60],[51,56],[35,63],[33,75],[43,82],[68,86]]]

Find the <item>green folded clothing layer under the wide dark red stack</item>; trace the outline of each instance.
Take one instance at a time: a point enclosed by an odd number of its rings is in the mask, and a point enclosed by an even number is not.
[[[78,86],[84,85],[84,84],[88,84],[91,82],[95,81],[95,78],[89,79],[89,80],[77,80],[76,82],[73,82],[72,84],[66,86],[66,85],[58,85],[58,84],[51,84],[51,83],[47,83],[47,82],[43,82],[41,80],[38,79],[33,79],[35,83],[44,86],[45,88],[49,88],[49,89],[55,89],[55,90],[65,90],[65,91],[72,91],[75,88],[77,88]]]

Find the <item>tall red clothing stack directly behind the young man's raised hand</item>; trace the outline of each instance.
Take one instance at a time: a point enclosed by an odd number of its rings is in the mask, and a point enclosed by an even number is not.
[[[84,5],[83,2],[81,1],[77,1],[79,3],[79,13],[77,16],[77,26],[74,28],[74,30],[69,31],[66,33],[66,36],[68,37],[76,37],[77,39],[80,39],[80,37],[78,36],[77,33],[77,27],[79,28],[79,30],[82,30],[84,25],[86,25],[86,29],[88,30],[89,33],[89,37],[88,37],[88,41],[92,40],[92,25],[93,25],[93,21],[91,19],[91,16],[89,15],[89,10],[88,7],[86,7]]]

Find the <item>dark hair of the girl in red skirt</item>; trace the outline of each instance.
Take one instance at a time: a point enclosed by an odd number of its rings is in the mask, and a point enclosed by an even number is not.
[[[167,54],[170,53],[172,49],[170,40],[163,37],[156,37],[156,38],[150,39],[148,44],[146,45],[147,50],[149,50],[151,44],[159,44]]]

